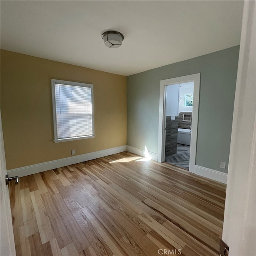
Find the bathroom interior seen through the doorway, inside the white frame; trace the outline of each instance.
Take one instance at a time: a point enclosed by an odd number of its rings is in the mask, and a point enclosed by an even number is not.
[[[165,162],[189,170],[194,82],[166,86]]]

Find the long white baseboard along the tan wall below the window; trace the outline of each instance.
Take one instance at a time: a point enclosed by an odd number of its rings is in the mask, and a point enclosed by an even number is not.
[[[126,151],[126,145],[116,147],[116,148],[108,148],[105,150],[100,150],[100,151],[82,154],[82,155],[78,155],[78,156],[71,156],[71,157],[67,157],[67,158],[62,158],[62,159],[58,159],[58,160],[40,163],[40,164],[33,164],[33,165],[29,165],[29,166],[24,166],[21,168],[15,168],[15,169],[7,170],[7,173],[11,177],[12,176],[23,177],[23,176],[27,176],[30,174],[35,174],[38,172],[52,170],[52,169],[60,168],[60,167],[67,166],[70,164],[77,164],[80,162],[89,161],[92,159],[100,158],[103,156],[109,156],[109,155],[124,152],[124,151]]]

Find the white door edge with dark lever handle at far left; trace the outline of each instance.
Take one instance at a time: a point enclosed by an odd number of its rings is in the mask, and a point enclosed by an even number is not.
[[[5,154],[4,154],[4,140],[2,132],[2,120],[0,116],[0,125],[1,125],[1,166],[0,166],[0,196],[1,196],[1,226],[0,226],[0,255],[1,256],[10,256],[16,255],[15,245],[14,245],[14,236],[12,230],[12,214],[10,208],[10,199],[8,185],[5,183],[6,175],[6,163],[5,163]]]

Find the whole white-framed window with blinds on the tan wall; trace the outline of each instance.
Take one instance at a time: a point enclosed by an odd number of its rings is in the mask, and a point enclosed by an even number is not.
[[[54,142],[94,137],[93,85],[52,79]]]

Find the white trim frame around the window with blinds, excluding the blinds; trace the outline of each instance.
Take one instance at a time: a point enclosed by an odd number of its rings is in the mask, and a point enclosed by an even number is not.
[[[71,141],[71,140],[84,140],[84,139],[94,138],[95,134],[94,134],[93,84],[84,84],[84,83],[57,80],[57,79],[52,79],[51,81],[52,81],[52,107],[53,107],[54,142],[58,143],[58,142],[66,142],[66,141]],[[57,120],[56,120],[55,84],[64,84],[64,85],[71,85],[71,86],[83,86],[83,87],[90,87],[92,89],[92,94],[91,94],[92,95],[92,135],[58,139]]]

